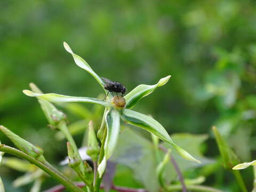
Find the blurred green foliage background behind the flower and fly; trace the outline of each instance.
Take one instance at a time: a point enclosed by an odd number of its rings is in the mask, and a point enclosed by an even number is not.
[[[22,93],[30,82],[47,93],[103,93],[63,49],[65,41],[96,73],[122,82],[128,91],[172,75],[135,110],[152,115],[170,134],[209,134],[202,151],[211,158],[219,157],[211,133],[216,125],[241,161],[252,161],[255,5],[249,0],[0,1],[0,124],[44,148],[55,163],[66,156],[65,141],[56,141],[46,127],[37,100]],[[0,139],[12,145],[3,134]],[[6,183],[20,174],[5,172]],[[251,189],[251,168],[242,174]],[[205,185],[239,191],[221,168]]]

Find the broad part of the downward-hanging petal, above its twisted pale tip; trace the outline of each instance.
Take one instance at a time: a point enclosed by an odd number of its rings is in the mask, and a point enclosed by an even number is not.
[[[120,115],[115,109],[109,110],[105,116],[107,138],[104,145],[106,159],[114,153],[120,133]]]

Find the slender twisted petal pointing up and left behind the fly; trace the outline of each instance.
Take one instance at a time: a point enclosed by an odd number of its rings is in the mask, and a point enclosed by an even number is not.
[[[76,65],[78,65],[79,67],[86,70],[89,74],[91,74],[96,79],[96,81],[100,84],[100,86],[103,88],[103,90],[105,90],[104,89],[105,83],[102,81],[102,79],[99,77],[99,75],[97,75],[92,70],[92,68],[89,66],[89,64],[83,58],[81,58],[77,54],[73,53],[73,51],[71,50],[71,48],[69,47],[69,45],[66,42],[63,42],[63,45],[64,45],[66,51],[69,52],[73,56]]]

